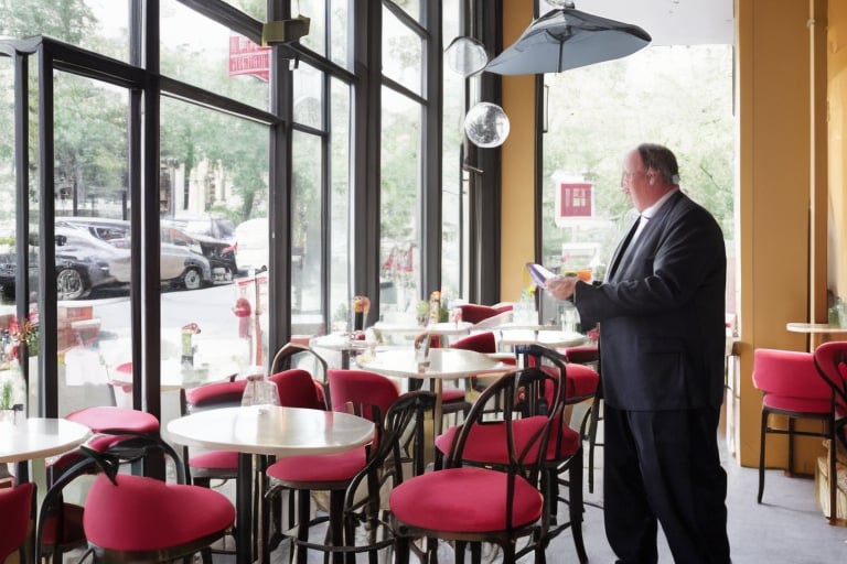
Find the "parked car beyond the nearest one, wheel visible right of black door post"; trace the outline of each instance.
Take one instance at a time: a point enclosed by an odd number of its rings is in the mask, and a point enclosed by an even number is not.
[[[84,230],[108,243],[129,249],[129,221],[103,217],[61,217],[56,225]],[[214,258],[204,252],[204,246],[196,238],[175,227],[162,224],[161,228],[161,280],[187,290],[205,284],[232,282],[235,273],[235,253],[223,258],[215,251]],[[207,247],[212,252],[214,246]]]

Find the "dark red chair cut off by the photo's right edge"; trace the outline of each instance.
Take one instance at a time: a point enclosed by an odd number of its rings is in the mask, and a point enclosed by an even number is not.
[[[829,480],[829,524],[846,524],[847,517],[838,516],[838,453],[847,453],[847,341],[818,345],[814,351],[815,368],[830,390],[829,444],[826,466]],[[847,460],[845,460],[847,463]],[[847,490],[847,485],[845,485]],[[847,491],[846,491],[847,494]]]

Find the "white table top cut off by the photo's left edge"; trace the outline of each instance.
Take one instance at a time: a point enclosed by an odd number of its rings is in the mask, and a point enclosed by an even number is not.
[[[24,417],[0,421],[0,463],[45,458],[83,444],[92,430],[65,419]]]

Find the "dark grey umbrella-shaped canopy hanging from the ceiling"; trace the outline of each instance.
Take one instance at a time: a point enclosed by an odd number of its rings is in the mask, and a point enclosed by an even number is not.
[[[530,23],[485,70],[501,75],[560,73],[631,55],[651,40],[637,25],[562,8]]]

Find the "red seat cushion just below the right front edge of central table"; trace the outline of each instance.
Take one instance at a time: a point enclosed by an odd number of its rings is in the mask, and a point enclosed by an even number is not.
[[[280,458],[268,466],[267,475],[292,482],[343,481],[352,479],[367,463],[364,447],[343,453]]]

